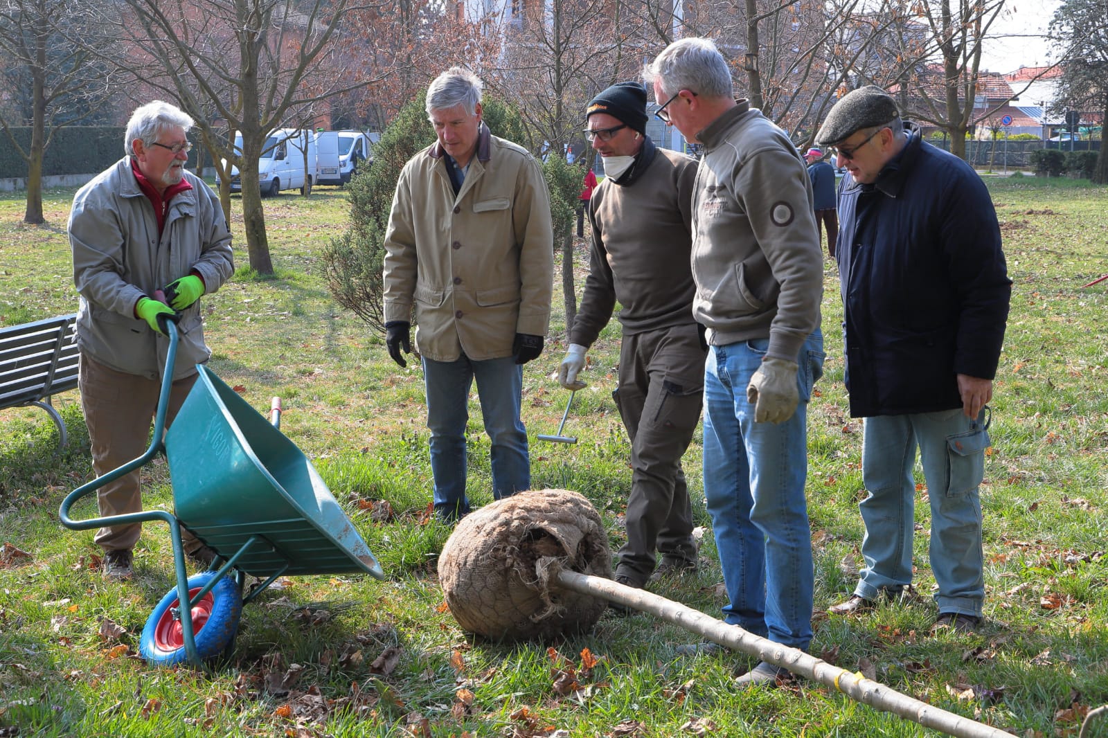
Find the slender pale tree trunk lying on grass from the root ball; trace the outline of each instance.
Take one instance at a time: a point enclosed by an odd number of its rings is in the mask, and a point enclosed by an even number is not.
[[[546,562],[548,563],[548,560]],[[635,590],[612,580],[578,574],[564,568],[558,570],[556,576],[551,578],[566,590],[603,597],[608,602],[657,615],[664,621],[679,625],[708,640],[755,656],[768,664],[784,667],[793,674],[833,687],[855,701],[892,713],[925,728],[933,728],[958,738],[1012,738],[1009,732],[927,705],[878,681],[866,679],[860,674],[832,666],[799,648],[782,646],[768,638],[756,636],[737,625],[728,625],[691,607],[645,590]]]

